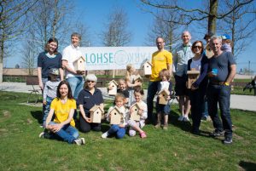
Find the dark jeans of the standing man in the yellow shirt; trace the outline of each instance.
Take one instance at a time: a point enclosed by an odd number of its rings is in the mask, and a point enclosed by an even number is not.
[[[159,82],[149,82],[148,83],[148,95],[147,95],[147,105],[148,105],[148,121],[154,123],[155,117],[153,117],[153,108],[154,108],[154,95],[157,92],[157,86]]]

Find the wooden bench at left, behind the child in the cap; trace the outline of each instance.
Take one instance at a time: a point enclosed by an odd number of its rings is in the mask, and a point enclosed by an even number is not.
[[[41,89],[35,88],[35,85],[38,85],[38,77],[36,77],[36,76],[28,76],[28,77],[26,77],[26,85],[31,85],[32,86],[32,89],[28,90],[28,91],[30,91],[30,94],[27,97],[26,103],[29,103],[29,100],[32,97],[32,94],[36,95],[35,104],[38,103],[38,99],[39,99],[39,97],[41,95],[40,94]]]

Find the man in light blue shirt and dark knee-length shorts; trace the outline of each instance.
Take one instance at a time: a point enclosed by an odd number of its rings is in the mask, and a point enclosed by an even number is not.
[[[194,56],[194,54],[191,51],[191,36],[189,31],[183,31],[181,38],[183,39],[183,43],[174,49],[172,53],[173,72],[175,72],[175,92],[178,96],[178,105],[181,112],[181,116],[178,117],[178,121],[189,122],[190,103],[186,81],[188,61]]]

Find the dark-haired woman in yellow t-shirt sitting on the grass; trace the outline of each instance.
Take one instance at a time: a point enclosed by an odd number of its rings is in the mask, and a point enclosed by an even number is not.
[[[84,138],[79,138],[79,131],[75,128],[73,112],[76,109],[76,101],[67,81],[61,81],[57,88],[57,97],[51,102],[49,115],[46,119],[46,128],[51,137],[56,135],[69,144],[84,145]],[[55,114],[54,121],[51,122]],[[43,132],[39,137],[46,137]]]

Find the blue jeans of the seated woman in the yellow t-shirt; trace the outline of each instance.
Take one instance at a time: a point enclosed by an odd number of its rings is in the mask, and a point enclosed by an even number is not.
[[[50,122],[49,125],[54,125],[58,123]],[[56,134],[58,137],[61,138],[61,140],[66,141],[68,144],[72,144],[73,140],[76,140],[79,138],[79,131],[74,128],[73,126],[70,126],[69,124],[64,125],[58,132],[53,133]]]

